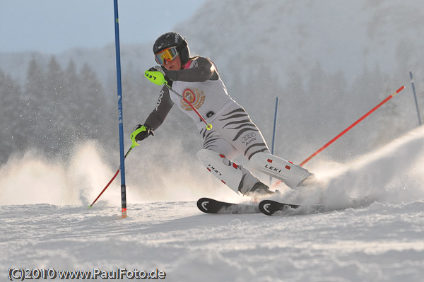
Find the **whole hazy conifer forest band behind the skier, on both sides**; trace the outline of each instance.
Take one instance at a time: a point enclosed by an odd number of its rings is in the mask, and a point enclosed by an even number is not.
[[[317,64],[309,75],[290,74],[288,83],[281,84],[281,75],[263,68],[256,78],[243,83],[236,79],[227,83],[227,87],[230,95],[245,106],[259,125],[270,146],[273,103],[279,95],[282,102],[277,140],[283,138],[285,144],[299,143],[298,150],[307,155],[314,146],[324,144],[344,129],[341,124],[347,127],[401,86],[394,81],[403,82],[407,88],[404,93],[384,105],[370,120],[361,124],[360,129],[352,131],[340,146],[336,144],[329,152],[331,158],[345,160],[378,148],[418,125],[408,72],[401,69],[403,74],[385,74],[378,67],[364,69],[363,74],[349,83],[342,72],[329,74]],[[149,85],[142,72],[131,65],[125,66],[123,72],[127,138],[132,127],[143,123],[153,110],[160,88]],[[228,71],[224,69],[220,73],[225,81]],[[67,65],[61,66],[53,55],[47,61],[34,55],[23,83],[9,75],[7,70],[0,69],[0,79],[4,124],[1,127],[1,164],[6,163],[12,153],[29,149],[48,157],[66,156],[72,144],[89,139],[102,143],[106,151],[117,151],[116,82],[99,78],[90,64],[84,63],[78,69],[72,58]],[[424,109],[424,94],[419,87],[423,82],[422,78],[416,81],[420,109]],[[256,106],[258,98],[263,107]],[[161,135],[185,139],[182,142],[184,149],[192,153],[199,150],[194,125],[179,112],[171,116],[163,125]],[[290,126],[292,122],[300,123],[303,129],[293,128]],[[368,137],[361,138],[363,134]],[[350,148],[349,152],[346,152],[346,146]],[[279,148],[278,145],[277,153],[300,155],[290,154],[285,146]]]

